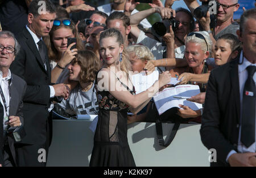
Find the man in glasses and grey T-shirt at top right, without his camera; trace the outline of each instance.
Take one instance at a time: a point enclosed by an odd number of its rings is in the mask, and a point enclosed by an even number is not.
[[[200,0],[201,2],[209,2],[209,0]],[[240,7],[238,0],[216,0],[219,4],[217,9],[217,23],[214,29],[210,28],[210,13],[208,12],[207,16],[203,16],[201,19],[198,19],[203,30],[207,31],[210,34],[213,45],[216,43],[216,40],[224,34],[233,34],[236,35],[236,31],[239,29],[239,24],[234,22],[233,14]],[[193,13],[194,10],[199,6],[199,3],[196,0],[184,0],[189,10]],[[214,7],[213,7],[214,8]]]

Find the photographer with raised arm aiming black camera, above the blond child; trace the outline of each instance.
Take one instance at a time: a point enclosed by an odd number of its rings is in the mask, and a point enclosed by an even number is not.
[[[159,13],[163,22],[156,22],[152,25],[151,31],[155,36],[162,37],[164,43],[149,38],[145,33],[134,26],[139,20],[148,15]],[[155,59],[163,58],[183,58],[184,57],[184,37],[193,31],[195,22],[192,14],[185,9],[179,8],[177,11],[164,8],[154,7],[148,10],[140,11],[130,16],[131,34],[135,36],[135,41],[150,48]]]

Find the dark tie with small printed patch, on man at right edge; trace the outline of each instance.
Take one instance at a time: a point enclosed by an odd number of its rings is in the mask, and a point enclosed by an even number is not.
[[[246,68],[248,78],[243,88],[243,110],[242,110],[242,125],[241,125],[241,142],[249,147],[255,142],[255,82],[253,80],[255,66]]]

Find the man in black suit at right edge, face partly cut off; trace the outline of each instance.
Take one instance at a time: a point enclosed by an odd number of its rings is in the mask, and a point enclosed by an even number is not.
[[[240,59],[210,73],[201,125],[201,140],[216,150],[211,166],[256,166],[256,9],[241,16]]]

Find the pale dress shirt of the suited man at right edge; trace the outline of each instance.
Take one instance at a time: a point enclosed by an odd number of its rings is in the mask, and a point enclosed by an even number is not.
[[[238,65],[239,88],[240,88],[240,123],[241,123],[241,119],[242,119],[243,88],[245,87],[245,82],[248,77],[248,72],[247,72],[246,68],[249,65],[256,66],[256,64],[251,64],[245,57],[243,57],[243,52],[241,52],[240,63],[242,62],[242,59],[243,59],[243,63],[241,65]],[[253,75],[253,80],[256,85],[256,72]],[[256,115],[256,108],[255,108],[255,115]],[[255,120],[256,120],[256,118],[255,118]],[[256,128],[256,122],[255,122],[255,128]],[[255,138],[256,138],[256,130],[255,130]],[[249,147],[246,147],[241,142],[241,125],[239,126],[239,137],[238,137],[237,150],[238,150],[238,152],[241,152],[241,153],[242,152],[255,152],[255,150],[256,150],[256,142],[251,144],[251,146],[249,146]],[[234,150],[230,151],[226,158],[226,161],[228,161],[229,156],[234,153],[236,153],[236,151],[234,151]]]

